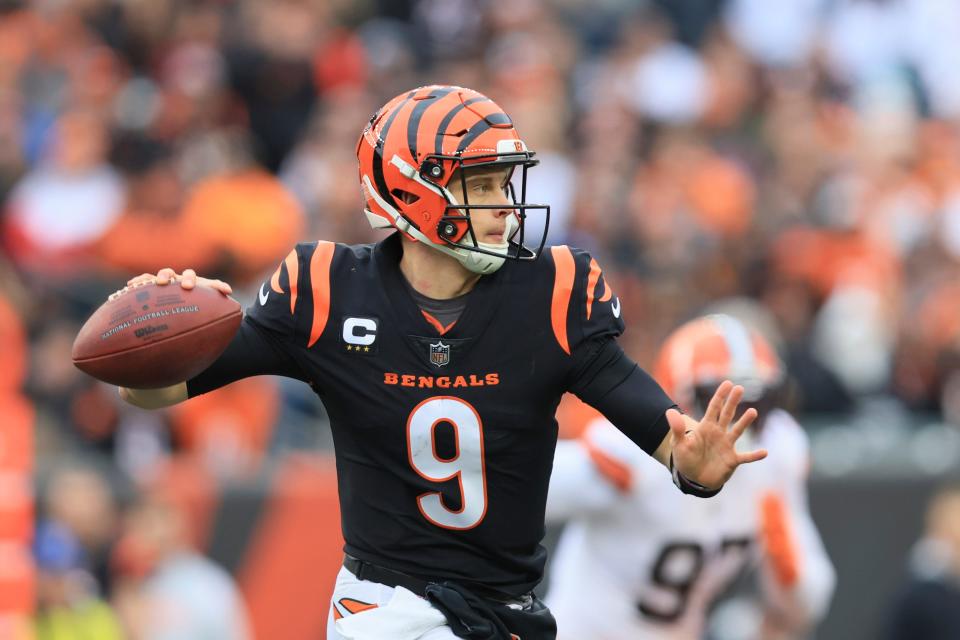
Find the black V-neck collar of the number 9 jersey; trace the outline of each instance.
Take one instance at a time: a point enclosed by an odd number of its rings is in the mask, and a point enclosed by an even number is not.
[[[400,234],[394,233],[376,244],[373,251],[374,262],[383,283],[384,294],[390,302],[390,307],[400,316],[404,326],[421,336],[439,335],[436,327],[427,322],[420,312],[420,307],[410,292],[409,286],[400,271],[400,258],[403,256],[403,245]],[[508,265],[496,272],[481,276],[476,286],[467,295],[467,305],[460,319],[444,334],[444,337],[467,338],[476,337],[490,326],[493,315],[498,308],[498,298]]]

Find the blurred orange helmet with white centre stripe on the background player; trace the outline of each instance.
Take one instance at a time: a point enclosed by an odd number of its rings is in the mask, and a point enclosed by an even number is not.
[[[671,398],[694,413],[702,412],[724,380],[743,386],[744,406],[756,406],[776,400],[785,377],[770,342],[725,314],[695,318],[675,329],[660,349],[653,374]]]

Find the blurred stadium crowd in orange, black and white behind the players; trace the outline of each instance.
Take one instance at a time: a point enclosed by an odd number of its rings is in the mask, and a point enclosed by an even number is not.
[[[193,267],[249,304],[297,239],[375,240],[358,133],[432,82],[513,116],[529,200],[604,265],[638,361],[707,308],[774,340],[839,573],[816,637],[880,637],[960,469],[953,0],[0,2],[0,637],[29,637],[71,544],[129,615],[162,562],[130,551],[145,500],[230,570],[256,637],[323,637],[338,514],[309,389],[146,413],[70,345],[133,274]]]

